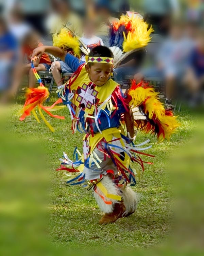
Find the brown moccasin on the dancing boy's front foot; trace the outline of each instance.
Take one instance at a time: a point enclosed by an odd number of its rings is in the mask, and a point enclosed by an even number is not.
[[[100,225],[111,224],[117,221],[117,219],[121,218],[126,208],[123,202],[116,203],[114,205],[114,210],[112,213],[105,213],[103,217],[100,219]]]

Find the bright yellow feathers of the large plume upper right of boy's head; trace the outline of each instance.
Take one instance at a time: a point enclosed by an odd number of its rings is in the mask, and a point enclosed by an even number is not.
[[[129,19],[129,20],[128,20]],[[125,24],[128,22],[132,23],[132,30],[129,31],[127,37],[124,34],[123,51],[130,52],[134,49],[147,46],[151,41],[150,34],[154,31],[152,26],[148,30],[148,24],[140,18],[124,18]]]

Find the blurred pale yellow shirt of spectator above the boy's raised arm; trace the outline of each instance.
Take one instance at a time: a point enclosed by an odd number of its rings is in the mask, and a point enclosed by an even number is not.
[[[71,29],[79,37],[81,37],[82,35],[81,19],[74,13],[70,13],[65,20],[62,20],[61,18],[56,18],[54,22],[54,26],[50,30],[50,33],[60,33],[61,28],[66,29],[65,26]]]

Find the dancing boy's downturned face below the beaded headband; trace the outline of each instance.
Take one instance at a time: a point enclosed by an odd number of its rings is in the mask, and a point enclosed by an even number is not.
[[[97,86],[104,85],[112,72],[112,64],[94,63],[90,67],[85,66],[89,79]]]

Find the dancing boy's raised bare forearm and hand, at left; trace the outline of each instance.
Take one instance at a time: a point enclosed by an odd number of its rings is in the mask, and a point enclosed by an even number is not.
[[[38,59],[40,59],[41,56],[45,52],[50,53],[50,54],[54,55],[57,58],[60,58],[62,61],[65,61],[65,57],[67,55],[67,53],[61,48],[58,48],[58,47],[55,47],[55,46],[45,46],[45,45],[43,45],[43,46],[40,46],[40,47],[37,47],[36,49],[34,49],[33,54],[32,54],[32,58],[37,56]]]

